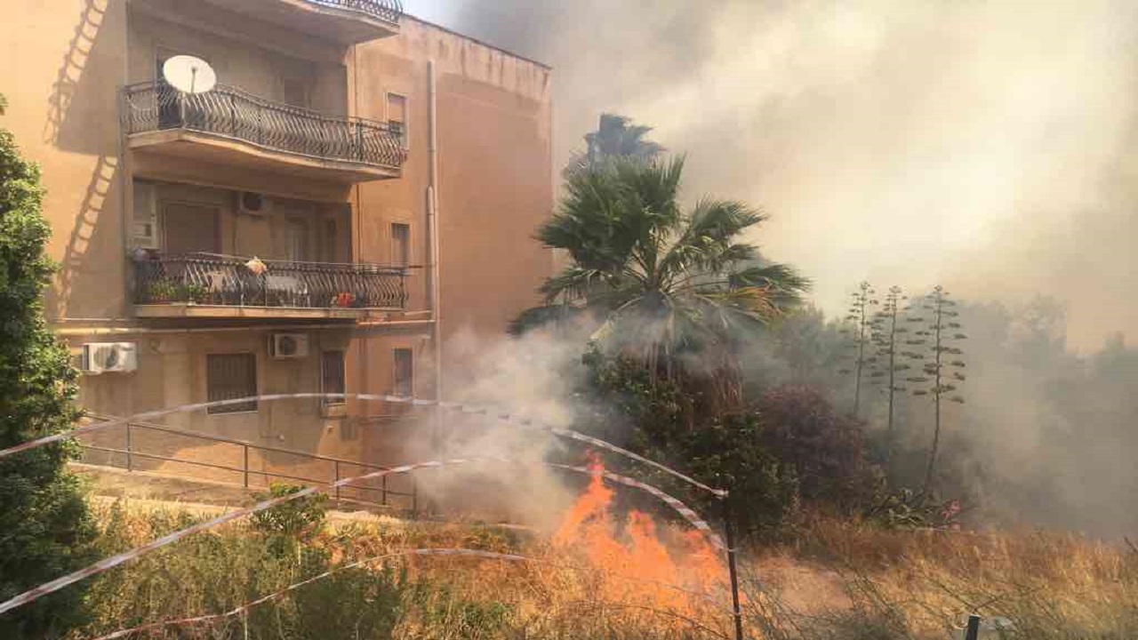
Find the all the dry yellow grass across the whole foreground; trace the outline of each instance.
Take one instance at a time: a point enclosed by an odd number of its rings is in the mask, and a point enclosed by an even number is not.
[[[106,508],[102,515],[106,522]],[[138,511],[127,508],[117,519],[116,543],[150,540],[192,517],[156,511],[149,504]],[[245,525],[197,538],[197,542],[188,540],[115,569],[97,583],[96,623],[77,638],[217,613],[291,584],[300,574],[297,558],[265,556],[263,542]],[[308,548],[323,553],[332,566],[412,548],[520,552],[536,560],[436,557],[389,561],[390,567],[405,568],[406,577],[399,586],[398,624],[393,635],[384,638],[731,635],[729,599],[723,586],[715,590],[715,602],[688,597],[627,575],[599,572],[583,558],[514,530],[337,520]],[[749,553],[743,575],[750,638],[946,639],[973,612],[1014,621],[1016,631],[1009,638],[1138,638],[1138,553],[1079,536],[898,532],[817,519],[803,526],[794,542]],[[354,584],[328,585],[323,597],[336,599],[355,589]],[[296,601],[263,605],[264,620],[294,615],[294,609],[304,608],[299,600],[305,597],[298,592]],[[142,638],[241,637],[232,624],[179,633]],[[286,635],[271,625],[250,635],[265,640],[302,637],[308,635]]]

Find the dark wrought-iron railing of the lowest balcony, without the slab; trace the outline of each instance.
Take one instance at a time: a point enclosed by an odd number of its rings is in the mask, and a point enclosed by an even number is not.
[[[134,261],[134,301],[387,310],[402,310],[407,304],[409,270],[403,266],[264,260],[265,269],[254,273],[246,262],[244,257],[205,253],[147,253]]]

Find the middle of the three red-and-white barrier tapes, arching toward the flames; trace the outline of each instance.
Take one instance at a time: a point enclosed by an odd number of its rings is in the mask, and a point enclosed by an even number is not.
[[[473,463],[473,462],[504,462],[504,463],[544,465],[544,466],[553,466],[555,468],[561,468],[561,469],[574,470],[574,471],[578,471],[578,473],[585,473],[585,474],[593,474],[594,473],[592,469],[588,469],[586,467],[571,467],[569,465],[549,465],[547,462],[517,462],[517,461],[513,461],[513,460],[503,460],[503,459],[495,459],[495,458],[455,458],[455,459],[452,459],[452,460],[432,460],[430,462],[418,462],[418,463],[414,463],[414,465],[404,465],[404,466],[394,467],[394,468],[390,468],[390,469],[381,469],[381,470],[377,470],[377,471],[371,471],[371,473],[368,473],[368,474],[363,474],[363,475],[360,475],[360,476],[354,476],[354,477],[351,477],[351,478],[343,478],[340,481],[337,481],[337,482],[331,483],[331,484],[325,485],[325,486],[327,486],[327,489],[337,489],[337,487],[347,486],[347,485],[349,485],[352,483],[355,483],[355,482],[362,482],[362,481],[368,481],[368,479],[376,479],[376,478],[380,478],[380,477],[389,476],[389,475],[395,475],[395,474],[406,474],[406,473],[410,473],[410,471],[413,471],[413,470],[417,470],[417,469],[437,468],[437,467],[444,467],[444,466],[450,466],[450,465],[469,465],[469,463]],[[679,515],[683,516],[684,519],[686,519],[687,522],[690,522],[692,524],[692,526],[694,526],[695,528],[702,531],[704,533],[704,535],[708,536],[708,539],[711,541],[712,544],[715,544],[720,550],[725,549],[725,545],[723,544],[723,541],[720,541],[719,536],[716,535],[715,532],[711,531],[711,527],[708,526],[708,524],[706,522],[703,522],[694,510],[692,510],[691,508],[688,508],[686,504],[684,504],[679,500],[676,500],[675,498],[668,495],[667,493],[663,493],[662,491],[660,491],[660,490],[658,490],[658,489],[655,489],[655,487],[653,487],[651,485],[644,484],[644,483],[642,483],[640,481],[636,481],[636,479],[633,479],[633,478],[628,478],[628,477],[620,476],[620,475],[617,475],[617,474],[610,474],[608,471],[605,473],[605,477],[608,477],[610,479],[613,479],[615,482],[619,482],[620,484],[625,484],[627,486],[633,486],[633,487],[636,487],[636,489],[641,489],[641,490],[648,491],[652,495],[655,495],[657,498],[659,498],[660,500],[662,500],[665,503],[667,503],[668,506],[670,506],[674,509],[676,509],[676,511],[679,512]],[[319,487],[319,486],[310,486],[310,487],[303,489],[303,490],[300,490],[300,491],[298,491],[296,493],[290,493],[288,495],[282,495],[280,498],[273,498],[271,500],[265,500],[265,501],[258,502],[258,503],[256,503],[256,504],[254,504],[251,507],[247,507],[245,509],[238,509],[238,510],[234,510],[234,511],[230,511],[228,514],[222,514],[221,516],[217,516],[217,517],[215,517],[215,518],[213,518],[211,520],[206,520],[204,523],[198,523],[198,524],[196,524],[193,526],[183,528],[181,531],[175,531],[175,532],[173,532],[171,534],[167,534],[167,535],[164,535],[164,536],[158,538],[156,540],[152,540],[152,541],[150,541],[150,542],[148,542],[148,543],[141,545],[141,547],[137,547],[137,548],[131,549],[129,551],[124,551],[122,553],[118,553],[117,556],[112,556],[110,558],[106,558],[104,560],[100,560],[100,561],[98,561],[98,563],[96,563],[96,564],[93,564],[93,565],[91,565],[91,566],[89,566],[86,568],[83,568],[83,569],[73,572],[73,573],[71,573],[68,575],[65,575],[63,577],[52,580],[51,582],[48,582],[46,584],[41,584],[40,586],[36,586],[35,589],[31,589],[28,591],[25,591],[24,593],[20,593],[19,596],[16,596],[15,598],[11,598],[10,600],[7,600],[5,602],[0,602],[0,614],[3,614],[6,612],[9,612],[9,610],[15,609],[17,607],[20,607],[20,606],[26,605],[28,602],[32,602],[34,600],[38,600],[38,599],[40,599],[40,598],[42,598],[42,597],[44,597],[44,596],[47,596],[49,593],[53,593],[56,591],[59,591],[60,589],[63,589],[63,588],[65,588],[65,586],[67,586],[69,584],[74,584],[74,583],[76,583],[76,582],[79,582],[81,580],[84,580],[84,579],[91,577],[93,575],[100,574],[100,573],[102,573],[102,572],[105,572],[107,569],[114,568],[114,567],[116,567],[116,566],[118,566],[118,565],[121,565],[123,563],[133,560],[133,559],[135,559],[135,558],[138,558],[140,556],[149,553],[150,551],[154,551],[156,549],[159,549],[162,547],[165,547],[167,544],[176,542],[176,541],[179,541],[179,540],[181,540],[181,539],[183,539],[183,538],[185,538],[188,535],[192,535],[195,533],[205,531],[207,528],[211,528],[211,527],[214,527],[214,526],[217,526],[217,525],[222,525],[222,524],[225,524],[225,523],[229,523],[229,522],[233,522],[233,520],[236,520],[238,518],[241,518],[241,517],[245,517],[245,516],[258,512],[258,511],[263,511],[265,509],[271,509],[272,507],[275,507],[278,504],[282,504],[284,502],[288,502],[290,500],[296,500],[296,499],[303,498],[305,495],[312,495],[312,494],[321,492],[321,491],[323,491],[323,490],[321,487]]]

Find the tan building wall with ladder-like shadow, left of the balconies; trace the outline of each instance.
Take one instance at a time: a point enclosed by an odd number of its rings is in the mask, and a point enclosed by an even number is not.
[[[125,0],[16,0],[0,19],[3,126],[40,163],[61,263],[49,317],[125,315],[118,87]]]

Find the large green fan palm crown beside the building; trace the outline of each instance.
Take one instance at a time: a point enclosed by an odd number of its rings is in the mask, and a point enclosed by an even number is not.
[[[809,281],[740,241],[766,220],[752,207],[704,198],[684,211],[683,169],[683,157],[618,157],[568,175],[537,238],[571,262],[542,286],[545,306],[513,329],[595,319],[591,338],[605,351],[636,358],[653,379],[710,384],[718,404],[735,404],[735,339],[799,304]]]

